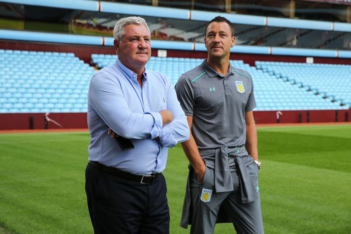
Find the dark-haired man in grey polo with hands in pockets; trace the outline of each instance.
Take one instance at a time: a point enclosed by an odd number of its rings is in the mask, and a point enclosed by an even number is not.
[[[238,234],[263,233],[258,192],[256,107],[251,75],[229,63],[235,37],[231,23],[214,18],[206,27],[208,58],[176,85],[191,129],[182,146],[190,172],[181,226],[213,233],[231,222]]]

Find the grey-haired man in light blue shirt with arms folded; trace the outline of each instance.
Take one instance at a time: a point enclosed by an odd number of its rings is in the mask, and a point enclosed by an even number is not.
[[[169,233],[162,171],[168,147],[188,140],[189,127],[170,81],[145,68],[150,37],[144,19],[120,19],[114,29],[118,59],[90,83],[86,193],[98,234]]]

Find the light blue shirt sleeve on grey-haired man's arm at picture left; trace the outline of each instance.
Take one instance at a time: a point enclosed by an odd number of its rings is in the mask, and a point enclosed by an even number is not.
[[[156,138],[162,130],[158,112],[133,113],[119,83],[97,73],[90,84],[90,101],[96,113],[117,135],[128,139]]]

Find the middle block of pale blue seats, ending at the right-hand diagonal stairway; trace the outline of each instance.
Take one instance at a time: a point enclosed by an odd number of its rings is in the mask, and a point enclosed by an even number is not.
[[[92,55],[93,62],[98,67],[111,65],[116,58],[115,55]],[[147,68],[165,74],[175,85],[182,73],[202,61],[203,59],[151,57]],[[300,83],[292,82],[291,79],[280,79],[281,77],[277,77],[273,72],[267,69],[262,70],[261,66],[257,65],[260,68],[257,69],[245,64],[242,60],[230,60],[230,62],[234,67],[247,70],[253,76],[257,103],[256,111],[338,110],[349,108],[348,105],[341,106],[340,102],[325,99],[316,91],[309,87],[306,88]],[[305,76],[305,78],[308,77]]]

